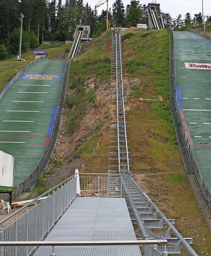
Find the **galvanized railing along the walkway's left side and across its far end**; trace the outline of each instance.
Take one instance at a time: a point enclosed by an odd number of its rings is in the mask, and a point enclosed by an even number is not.
[[[35,250],[35,241],[44,239],[75,199],[77,180],[81,195],[122,197],[122,174],[79,173],[79,179],[74,174],[0,222],[0,255],[22,256]],[[17,217],[20,212],[22,216]],[[23,245],[20,241],[33,242]]]

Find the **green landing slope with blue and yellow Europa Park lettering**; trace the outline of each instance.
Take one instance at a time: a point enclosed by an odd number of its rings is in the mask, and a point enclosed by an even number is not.
[[[14,187],[37,166],[51,135],[65,61],[29,67],[0,100],[0,150],[15,156]]]

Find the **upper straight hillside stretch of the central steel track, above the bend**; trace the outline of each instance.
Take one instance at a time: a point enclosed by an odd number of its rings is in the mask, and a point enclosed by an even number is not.
[[[113,80],[111,81],[111,103],[110,114],[116,117],[116,121],[110,121],[110,140],[109,140],[109,172],[117,171],[129,172],[129,151],[127,145],[125,107],[124,107],[124,88],[122,79],[122,51],[121,51],[121,32],[112,33],[112,68],[111,73]],[[116,106],[115,108],[112,108]],[[112,126],[114,125],[114,126]],[[113,129],[113,130],[112,130]],[[114,133],[113,133],[114,132]],[[115,135],[116,134],[116,135]],[[114,145],[114,146],[111,146]],[[116,146],[117,145],[117,146]],[[114,151],[112,151],[113,149]],[[117,151],[116,151],[117,149]],[[114,158],[118,154],[117,158]],[[112,162],[118,161],[118,163]],[[111,170],[116,167],[118,170]]]

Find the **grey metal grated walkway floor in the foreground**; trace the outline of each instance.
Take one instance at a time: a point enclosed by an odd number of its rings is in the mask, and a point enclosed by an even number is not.
[[[45,240],[136,240],[136,235],[124,198],[76,197]],[[40,247],[34,256],[50,253],[50,247]],[[56,256],[141,256],[138,245],[56,246],[55,253]]]

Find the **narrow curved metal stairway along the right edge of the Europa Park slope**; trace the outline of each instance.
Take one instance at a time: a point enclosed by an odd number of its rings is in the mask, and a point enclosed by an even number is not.
[[[36,176],[34,177],[34,179],[29,183],[29,185],[24,189],[25,192],[31,192],[32,189],[34,188],[34,186],[36,185],[36,180],[38,177],[40,177],[46,167],[48,166],[48,163],[50,161],[50,157],[53,154],[54,148],[56,146],[56,142],[57,142],[57,138],[58,138],[58,134],[59,134],[59,127],[61,124],[61,118],[62,118],[62,112],[63,112],[63,107],[64,107],[64,100],[65,100],[65,95],[66,95],[66,90],[67,90],[67,81],[68,81],[68,75],[69,75],[69,70],[70,70],[70,64],[71,64],[71,60],[68,59],[67,63],[65,65],[65,70],[64,70],[64,80],[62,83],[62,90],[61,90],[61,97],[60,97],[60,101],[58,104],[58,114],[57,114],[57,118],[56,118],[56,123],[55,123],[55,129],[53,132],[53,136],[52,136],[52,140],[50,143],[50,146],[48,148],[48,151],[45,155],[45,159],[43,161],[43,164],[41,165],[39,171],[37,172]]]

